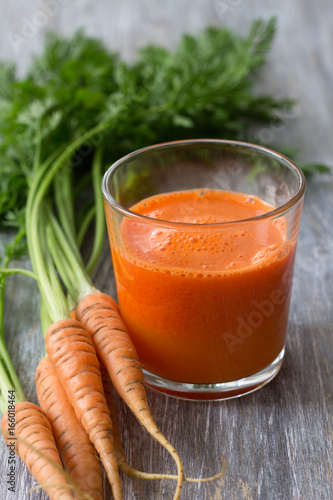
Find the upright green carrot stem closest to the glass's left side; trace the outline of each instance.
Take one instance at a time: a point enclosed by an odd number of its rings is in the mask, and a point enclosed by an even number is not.
[[[97,262],[99,261],[105,239],[105,218],[104,218],[104,207],[103,207],[103,195],[101,189],[102,159],[103,159],[103,150],[101,147],[99,147],[96,150],[92,166],[92,180],[93,180],[94,195],[95,195],[96,216],[95,216],[94,244],[90,255],[90,259],[86,266],[87,272],[90,275],[93,273],[97,265]]]

